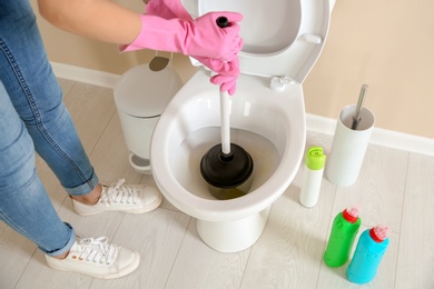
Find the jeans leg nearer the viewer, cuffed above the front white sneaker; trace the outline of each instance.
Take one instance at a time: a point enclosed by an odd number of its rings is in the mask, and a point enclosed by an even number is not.
[[[37,176],[34,149],[0,81],[0,219],[48,255],[61,255],[76,233],[57,215]]]

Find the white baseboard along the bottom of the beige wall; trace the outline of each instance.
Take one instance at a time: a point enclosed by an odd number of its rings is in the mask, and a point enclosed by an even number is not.
[[[51,62],[55,74],[58,78],[69,79],[99,87],[115,88],[119,74],[91,70],[70,64]],[[333,136],[336,119],[307,114],[306,126],[308,131]],[[434,157],[434,139],[403,133],[398,131],[374,128],[371,143],[398,150],[412,151]]]

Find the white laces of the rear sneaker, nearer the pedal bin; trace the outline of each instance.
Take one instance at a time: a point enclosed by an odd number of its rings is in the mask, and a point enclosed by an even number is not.
[[[103,205],[109,207],[111,203],[134,203],[136,205],[136,191],[132,188],[122,186],[125,179],[111,183],[101,192],[100,200]]]

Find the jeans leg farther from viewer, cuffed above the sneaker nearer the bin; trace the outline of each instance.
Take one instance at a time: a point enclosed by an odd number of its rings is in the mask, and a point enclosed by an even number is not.
[[[62,101],[29,1],[0,1],[0,79],[37,152],[68,193],[87,195],[98,178]]]

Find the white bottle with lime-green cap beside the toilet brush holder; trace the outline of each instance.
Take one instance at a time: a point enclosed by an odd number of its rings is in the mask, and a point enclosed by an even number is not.
[[[315,207],[318,202],[325,159],[322,147],[310,147],[307,150],[299,193],[299,202],[307,208]]]

